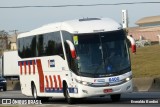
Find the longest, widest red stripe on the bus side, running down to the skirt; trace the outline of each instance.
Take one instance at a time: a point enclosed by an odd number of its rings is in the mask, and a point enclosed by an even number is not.
[[[39,88],[40,88],[40,92],[44,92],[44,74],[43,74],[41,60],[37,59],[36,63],[37,63],[37,69],[38,69],[38,75],[39,75]]]

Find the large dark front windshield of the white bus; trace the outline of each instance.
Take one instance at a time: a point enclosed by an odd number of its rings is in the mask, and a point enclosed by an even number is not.
[[[123,30],[79,34],[74,38],[79,74],[104,77],[131,70]]]

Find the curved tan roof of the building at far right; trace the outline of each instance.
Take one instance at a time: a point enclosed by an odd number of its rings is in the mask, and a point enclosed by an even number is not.
[[[150,17],[144,17],[139,19],[136,24],[141,25],[141,24],[148,24],[148,23],[157,23],[160,22],[160,16],[150,16]]]

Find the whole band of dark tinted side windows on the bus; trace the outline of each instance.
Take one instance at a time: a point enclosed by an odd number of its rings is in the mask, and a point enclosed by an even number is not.
[[[19,38],[18,54],[21,58],[51,55],[60,55],[63,57],[60,32]]]

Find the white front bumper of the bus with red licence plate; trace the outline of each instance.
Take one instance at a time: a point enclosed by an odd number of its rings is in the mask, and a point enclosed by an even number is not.
[[[91,96],[105,96],[112,94],[130,93],[133,90],[132,79],[120,85],[107,87],[90,87],[78,84],[75,93],[70,93],[70,97],[84,98]]]

